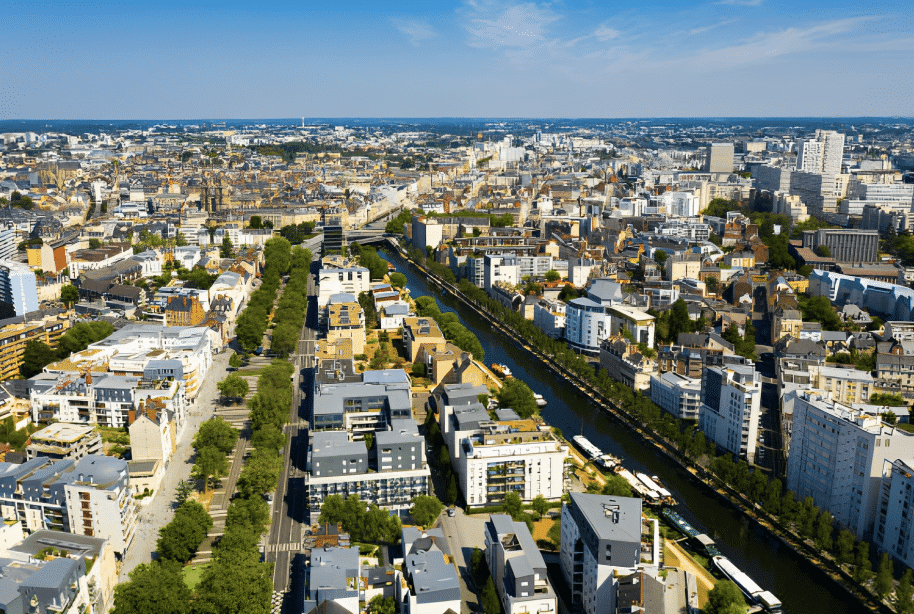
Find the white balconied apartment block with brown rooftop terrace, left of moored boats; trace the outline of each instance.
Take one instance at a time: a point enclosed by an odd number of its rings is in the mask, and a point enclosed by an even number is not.
[[[477,400],[484,386],[444,387],[441,435],[457,482],[470,505],[504,501],[516,492],[524,501],[538,495],[556,501],[563,493],[568,447],[548,426],[499,410],[498,420]]]

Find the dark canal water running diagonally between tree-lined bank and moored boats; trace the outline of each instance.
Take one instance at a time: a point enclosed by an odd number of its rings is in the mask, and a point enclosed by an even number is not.
[[[451,311],[470,329],[485,350],[485,363],[508,365],[513,375],[525,381],[547,401],[541,414],[567,439],[583,434],[604,452],[620,457],[635,471],[659,476],[681,503],[677,511],[716,542],[733,561],[763,588],[773,592],[787,612],[842,614],[859,612],[858,602],[834,584],[817,567],[751,524],[701,484],[694,482],[659,452],[641,444],[627,429],[612,420],[574,386],[545,368],[523,348],[493,331],[488,322],[450,296],[430,289],[424,277],[397,254],[381,255],[406,275],[412,296],[435,296],[442,311]]]

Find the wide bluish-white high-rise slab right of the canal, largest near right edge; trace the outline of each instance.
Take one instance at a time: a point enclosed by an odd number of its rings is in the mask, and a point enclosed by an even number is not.
[[[869,540],[880,509],[884,462],[914,456],[914,434],[879,416],[827,400],[817,390],[793,401],[786,487]]]

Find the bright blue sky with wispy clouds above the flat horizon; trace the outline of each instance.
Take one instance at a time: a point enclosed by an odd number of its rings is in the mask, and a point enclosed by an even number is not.
[[[905,2],[0,7],[0,119],[914,115]]]

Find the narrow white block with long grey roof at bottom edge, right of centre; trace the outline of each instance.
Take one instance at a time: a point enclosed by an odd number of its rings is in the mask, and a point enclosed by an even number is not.
[[[485,533],[486,561],[505,614],[554,614],[546,562],[526,523],[492,514]]]

